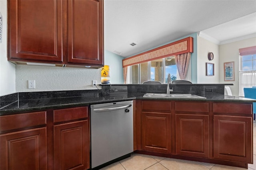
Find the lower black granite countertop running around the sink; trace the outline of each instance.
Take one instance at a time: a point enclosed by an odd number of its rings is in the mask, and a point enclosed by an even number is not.
[[[0,115],[9,115],[15,113],[23,113],[25,111],[37,111],[46,109],[58,109],[64,107],[77,107],[86,106],[100,103],[110,103],[118,101],[127,101],[133,99],[147,99],[147,100],[180,100],[180,101],[220,101],[220,102],[256,102],[254,99],[246,99],[243,97],[235,97],[221,94],[212,94],[203,96],[206,99],[166,99],[166,98],[143,98],[144,93],[120,93],[110,95],[83,95],[76,97],[56,97],[56,98],[42,98],[42,99],[25,99],[16,100],[8,105],[4,105],[0,108]]]

